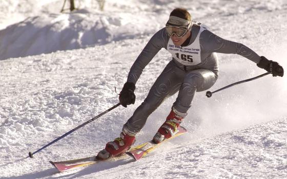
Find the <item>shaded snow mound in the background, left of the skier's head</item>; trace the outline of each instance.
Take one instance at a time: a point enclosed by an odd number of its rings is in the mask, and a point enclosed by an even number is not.
[[[116,16],[78,10],[70,14],[43,14],[0,31],[0,59],[24,57],[58,50],[86,48],[155,32],[147,18],[130,13]]]

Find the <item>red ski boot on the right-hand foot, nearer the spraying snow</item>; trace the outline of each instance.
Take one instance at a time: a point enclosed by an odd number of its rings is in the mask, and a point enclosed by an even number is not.
[[[177,133],[177,128],[187,113],[182,113],[172,108],[165,123],[163,123],[153,137],[153,142],[158,144]]]

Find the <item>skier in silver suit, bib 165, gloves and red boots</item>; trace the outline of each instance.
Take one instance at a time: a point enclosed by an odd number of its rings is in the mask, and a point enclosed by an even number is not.
[[[169,16],[165,28],[156,32],[141,51],[130,69],[127,82],[119,94],[122,106],[135,103],[135,84],[146,65],[161,49],[167,49],[172,61],[156,79],[145,101],[134,111],[122,128],[120,137],[107,143],[97,158],[105,160],[126,152],[135,142],[136,134],[144,127],[148,116],[165,100],[176,92],[178,96],[166,121],[153,137],[154,143],[160,143],[177,132],[183,121],[196,91],[211,88],[218,76],[218,59],[216,53],[236,53],[256,63],[272,73],[283,76],[283,68],[264,56],[259,56],[247,46],[227,41],[192,21],[186,9],[176,8]]]

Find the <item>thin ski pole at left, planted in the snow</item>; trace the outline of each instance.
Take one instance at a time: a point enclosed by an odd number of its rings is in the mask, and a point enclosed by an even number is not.
[[[28,158],[28,157],[33,158],[33,157],[34,157],[33,155],[34,155],[35,153],[37,153],[37,152],[39,152],[39,151],[45,149],[46,147],[52,145],[53,143],[59,141],[61,138],[66,137],[67,135],[69,135],[70,133],[74,132],[75,130],[77,130],[77,129],[79,129],[79,128],[81,128],[81,127],[83,127],[83,126],[85,126],[85,125],[87,125],[87,124],[89,124],[89,123],[91,123],[92,121],[95,121],[97,118],[99,118],[100,116],[102,116],[102,115],[108,113],[109,111],[115,109],[115,108],[118,107],[119,105],[120,105],[120,103],[114,105],[114,106],[111,107],[110,109],[107,109],[106,111],[104,111],[104,112],[98,114],[97,116],[91,118],[91,120],[87,121],[86,123],[83,123],[83,124],[79,125],[78,127],[76,127],[76,128],[74,128],[74,129],[70,130],[69,132],[65,133],[64,135],[62,135],[62,136],[56,138],[54,141],[52,141],[52,142],[50,142],[49,144],[47,144],[46,146],[44,146],[44,147],[38,149],[37,151],[35,151],[35,152],[33,152],[33,153],[32,153],[32,152],[29,152],[29,156],[27,156],[26,158]]]

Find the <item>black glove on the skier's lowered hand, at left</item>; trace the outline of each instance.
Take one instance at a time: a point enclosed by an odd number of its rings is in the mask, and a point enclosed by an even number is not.
[[[125,83],[121,92],[119,93],[119,103],[125,108],[127,105],[134,104],[135,102],[135,85],[131,82]]]

